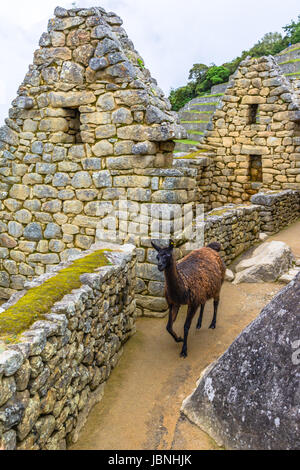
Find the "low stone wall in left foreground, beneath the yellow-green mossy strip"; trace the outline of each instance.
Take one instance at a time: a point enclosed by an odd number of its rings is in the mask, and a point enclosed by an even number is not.
[[[64,449],[76,441],[89,410],[101,400],[122,345],[135,332],[136,316],[134,247],[114,247],[105,255],[111,265],[83,274],[81,286],[14,344],[0,341],[0,448]],[[31,288],[29,283],[22,294],[38,292],[49,276]],[[4,310],[16,308],[19,297]]]

